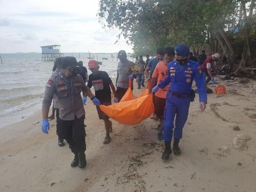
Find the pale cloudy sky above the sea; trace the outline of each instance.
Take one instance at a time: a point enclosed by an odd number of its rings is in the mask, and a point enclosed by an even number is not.
[[[98,0],[0,0],[0,53],[41,52],[60,44],[62,52],[132,52],[118,30],[103,29]]]

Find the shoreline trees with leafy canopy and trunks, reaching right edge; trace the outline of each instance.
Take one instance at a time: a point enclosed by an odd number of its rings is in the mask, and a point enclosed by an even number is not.
[[[100,0],[104,27],[118,28],[136,54],[188,44],[224,53],[231,67],[255,64],[255,0]],[[120,36],[119,36],[120,37]]]

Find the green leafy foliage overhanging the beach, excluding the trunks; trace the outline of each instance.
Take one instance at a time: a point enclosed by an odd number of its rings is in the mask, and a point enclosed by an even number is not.
[[[136,54],[155,54],[158,46],[210,44],[218,28],[231,31],[240,0],[100,0],[100,20],[128,38]],[[232,38],[232,37],[231,37]],[[216,38],[215,38],[216,39]]]

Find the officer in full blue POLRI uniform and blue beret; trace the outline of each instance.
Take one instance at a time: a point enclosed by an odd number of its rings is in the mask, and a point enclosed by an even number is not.
[[[174,128],[174,155],[180,155],[178,146],[182,138],[182,129],[188,118],[190,102],[194,101],[194,90],[192,89],[193,79],[196,79],[199,91],[199,108],[204,111],[207,103],[206,88],[204,86],[204,75],[198,62],[189,60],[189,48],[187,45],[180,44],[175,48],[176,60],[168,64],[167,77],[156,85],[152,92],[157,92],[159,88],[165,88],[171,83],[170,89],[166,95],[166,107],[164,113],[164,141],[165,150],[162,154],[163,160],[168,160],[171,151],[172,132]]]

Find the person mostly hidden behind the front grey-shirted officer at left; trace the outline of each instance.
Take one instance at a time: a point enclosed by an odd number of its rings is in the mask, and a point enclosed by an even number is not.
[[[56,69],[52,73],[51,78],[55,78],[56,76],[58,76],[58,73],[61,70],[61,59],[62,59],[62,57],[59,57],[54,62],[54,66],[56,66]],[[65,143],[64,143],[64,140],[63,140],[63,136],[62,136],[62,132],[61,132],[61,126],[60,126],[58,98],[57,98],[55,93],[54,93],[54,97],[53,97],[53,106],[52,107],[56,109],[56,133],[58,135],[58,146],[62,147],[62,146],[65,145]]]

